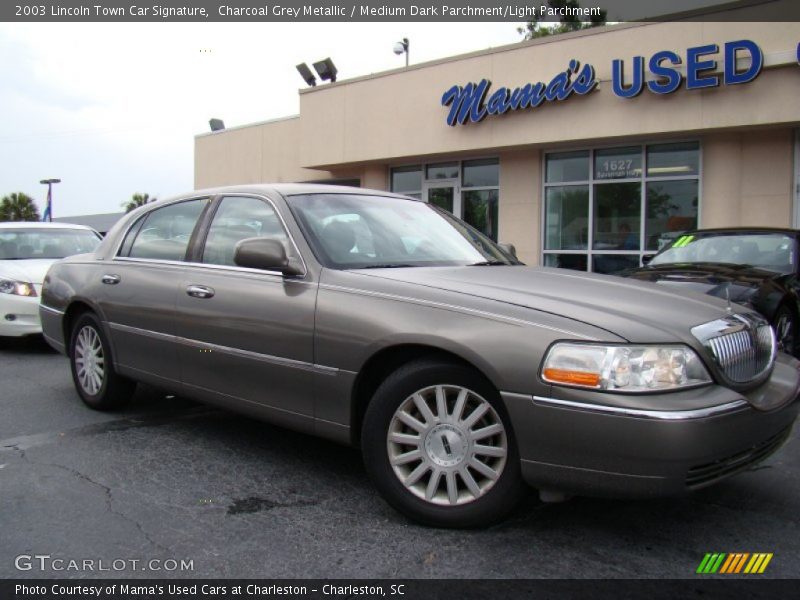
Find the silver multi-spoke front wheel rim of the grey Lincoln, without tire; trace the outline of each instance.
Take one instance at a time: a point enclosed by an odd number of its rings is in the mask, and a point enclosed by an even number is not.
[[[492,488],[506,464],[508,439],[484,398],[464,387],[436,385],[403,401],[392,416],[386,447],[406,489],[451,506]]]

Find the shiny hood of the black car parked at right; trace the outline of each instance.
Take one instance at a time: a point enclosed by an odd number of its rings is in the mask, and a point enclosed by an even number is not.
[[[727,301],[746,304],[765,281],[781,275],[748,265],[721,263],[670,263],[622,273],[640,281],[652,281],[679,290],[691,290]]]

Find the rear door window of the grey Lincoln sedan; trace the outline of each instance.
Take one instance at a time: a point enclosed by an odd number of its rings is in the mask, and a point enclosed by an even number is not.
[[[207,199],[170,204],[149,213],[138,226],[133,243],[126,239],[120,256],[152,260],[183,260],[189,238]],[[131,230],[129,236],[136,227]],[[128,247],[130,250],[128,250]],[[126,254],[127,251],[127,254]]]

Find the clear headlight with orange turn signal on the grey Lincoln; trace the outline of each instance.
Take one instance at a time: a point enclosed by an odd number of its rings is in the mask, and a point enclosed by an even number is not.
[[[555,344],[544,359],[542,379],[615,392],[669,391],[711,383],[688,346]]]

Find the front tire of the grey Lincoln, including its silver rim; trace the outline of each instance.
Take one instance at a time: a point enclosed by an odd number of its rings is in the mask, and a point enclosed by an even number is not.
[[[441,359],[409,363],[380,385],[361,447],[383,498],[424,525],[490,525],[525,490],[499,394],[473,369]]]

